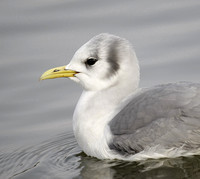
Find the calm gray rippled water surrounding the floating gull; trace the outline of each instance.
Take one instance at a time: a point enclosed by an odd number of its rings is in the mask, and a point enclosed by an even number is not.
[[[129,39],[141,84],[200,81],[198,0],[1,0],[0,178],[199,178],[200,157],[141,162],[87,157],[72,132],[81,87],[39,82],[101,32]]]

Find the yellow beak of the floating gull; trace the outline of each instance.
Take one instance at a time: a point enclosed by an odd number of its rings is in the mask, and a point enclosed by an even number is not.
[[[74,77],[74,75],[78,73],[73,70],[66,70],[65,67],[66,66],[61,66],[61,67],[56,67],[56,68],[47,70],[46,72],[42,74],[42,76],[40,77],[40,80],[63,78],[63,77]]]

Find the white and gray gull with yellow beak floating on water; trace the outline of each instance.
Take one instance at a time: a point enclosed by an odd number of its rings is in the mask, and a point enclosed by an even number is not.
[[[73,131],[88,156],[137,161],[200,154],[200,84],[139,88],[139,63],[128,40],[99,34],[40,80],[61,77],[83,86]]]

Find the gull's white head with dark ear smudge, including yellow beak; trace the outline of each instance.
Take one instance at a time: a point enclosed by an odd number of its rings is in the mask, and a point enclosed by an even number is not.
[[[126,39],[103,33],[80,47],[67,66],[48,70],[41,79],[58,77],[69,77],[86,91],[100,91],[120,84],[136,89],[139,65]]]

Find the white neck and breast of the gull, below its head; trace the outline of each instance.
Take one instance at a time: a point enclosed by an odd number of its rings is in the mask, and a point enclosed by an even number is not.
[[[121,75],[120,82],[100,91],[83,91],[76,106],[73,129],[83,151],[97,158],[111,158],[108,141],[111,139],[108,122],[124,107],[126,98],[133,94],[139,83],[138,73]]]

